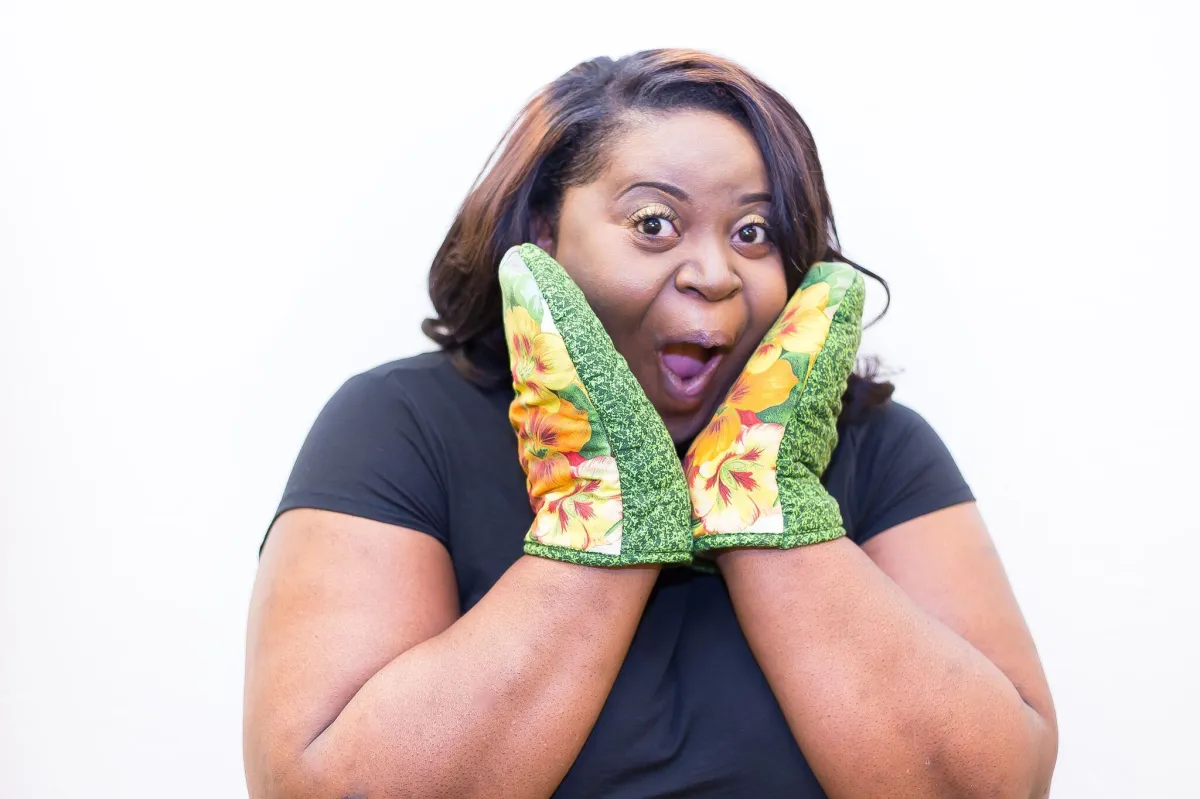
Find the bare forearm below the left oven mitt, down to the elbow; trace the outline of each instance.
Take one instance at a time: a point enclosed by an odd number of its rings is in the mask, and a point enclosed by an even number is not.
[[[299,793],[281,795],[548,795],[600,714],[658,572],[522,558],[470,612],[367,680],[305,751]]]

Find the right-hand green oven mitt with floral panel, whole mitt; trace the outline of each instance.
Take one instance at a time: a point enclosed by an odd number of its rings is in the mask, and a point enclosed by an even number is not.
[[[838,443],[864,298],[853,266],[814,264],[692,441],[684,471],[697,555],[799,547],[846,534],[821,475]]]

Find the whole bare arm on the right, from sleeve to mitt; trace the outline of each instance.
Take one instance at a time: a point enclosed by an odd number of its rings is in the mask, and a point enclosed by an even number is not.
[[[865,549],[865,551],[864,551]],[[830,797],[1044,797],[1050,691],[973,503],[719,563]]]

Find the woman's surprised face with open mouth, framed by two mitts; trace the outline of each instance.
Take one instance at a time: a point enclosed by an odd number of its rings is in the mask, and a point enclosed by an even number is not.
[[[568,188],[548,251],[583,290],[677,444],[708,422],[784,310],[767,169],[712,112],[634,118]]]

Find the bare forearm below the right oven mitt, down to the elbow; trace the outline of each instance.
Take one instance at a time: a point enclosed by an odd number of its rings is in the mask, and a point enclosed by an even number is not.
[[[746,639],[829,795],[1049,789],[1046,719],[851,541],[734,549],[719,563]]]

